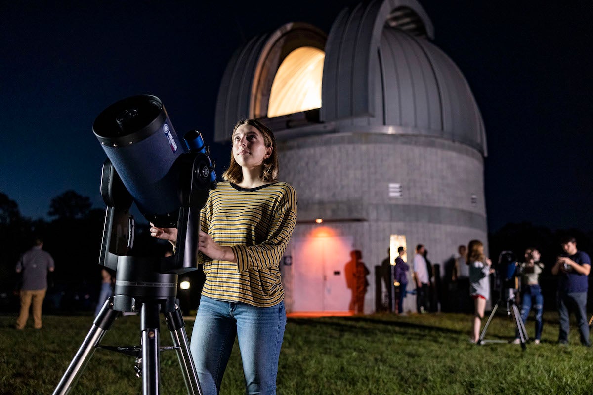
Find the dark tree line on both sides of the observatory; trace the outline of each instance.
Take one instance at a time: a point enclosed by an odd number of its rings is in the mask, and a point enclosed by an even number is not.
[[[19,277],[14,271],[15,264],[19,256],[31,248],[34,239],[42,237],[44,249],[56,262],[56,270],[50,275],[53,291],[94,298],[101,278],[98,257],[104,209],[93,208],[89,197],[69,190],[50,201],[47,215],[50,220],[24,217],[18,204],[0,192],[0,296],[17,290]],[[136,218],[139,220],[144,219]],[[579,249],[593,255],[593,232],[590,230],[551,230],[523,222],[506,224],[489,234],[490,258],[496,262],[500,252],[513,251],[521,260],[526,248],[537,248],[546,265],[541,278],[544,293],[548,300],[552,300],[556,278],[551,276],[550,268],[556,256],[562,253],[560,237],[567,234],[576,237]],[[162,254],[166,248],[149,235],[148,224],[142,223],[136,226],[134,243],[135,249],[146,255]]]

